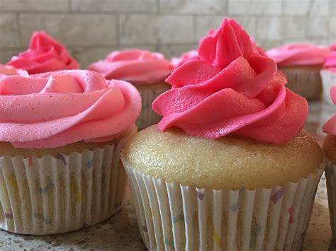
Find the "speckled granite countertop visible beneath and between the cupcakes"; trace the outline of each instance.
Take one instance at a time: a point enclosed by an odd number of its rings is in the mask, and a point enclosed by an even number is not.
[[[306,129],[321,143],[321,127],[335,114],[335,107],[310,103]],[[315,198],[313,214],[302,250],[328,250],[331,239],[327,189],[323,175]],[[123,209],[96,226],[62,235],[17,235],[0,230],[0,249],[26,250],[146,250],[142,244],[130,187]]]

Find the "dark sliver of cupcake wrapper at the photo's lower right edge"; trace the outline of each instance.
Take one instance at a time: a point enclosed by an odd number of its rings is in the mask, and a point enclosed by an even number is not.
[[[336,240],[336,163],[327,160],[325,177],[327,180],[327,200],[329,204],[330,225],[332,229],[332,239]]]

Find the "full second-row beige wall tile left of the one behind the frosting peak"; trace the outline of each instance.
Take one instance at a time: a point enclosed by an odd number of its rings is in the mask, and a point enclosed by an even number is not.
[[[193,42],[191,16],[121,15],[121,45],[181,44]]]

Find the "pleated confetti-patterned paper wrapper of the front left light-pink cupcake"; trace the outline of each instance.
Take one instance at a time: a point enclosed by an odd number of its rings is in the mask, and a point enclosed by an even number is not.
[[[121,142],[69,155],[0,157],[0,228],[45,235],[92,226],[123,204]]]

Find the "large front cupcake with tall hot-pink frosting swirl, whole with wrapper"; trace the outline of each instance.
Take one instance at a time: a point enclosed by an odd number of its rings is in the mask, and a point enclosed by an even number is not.
[[[166,79],[122,151],[150,250],[299,250],[323,173],[304,98],[234,20]]]

